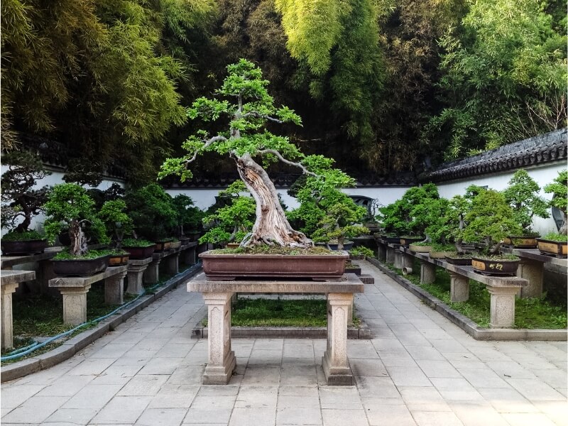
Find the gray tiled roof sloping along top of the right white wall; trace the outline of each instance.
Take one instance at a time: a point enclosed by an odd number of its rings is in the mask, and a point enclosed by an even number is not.
[[[567,136],[568,129],[565,128],[510,143],[463,160],[444,163],[422,175],[421,180],[442,182],[566,160]]]

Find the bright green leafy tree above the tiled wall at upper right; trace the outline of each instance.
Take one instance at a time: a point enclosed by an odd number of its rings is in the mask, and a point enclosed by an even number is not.
[[[430,121],[431,140],[449,141],[447,158],[457,158],[566,126],[565,13],[562,24],[547,13],[554,1],[469,6],[440,41],[445,107]]]

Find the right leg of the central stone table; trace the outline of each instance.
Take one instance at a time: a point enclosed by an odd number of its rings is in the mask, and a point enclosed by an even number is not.
[[[327,295],[327,350],[322,367],[328,385],[353,384],[353,373],[347,359],[347,322],[352,293]]]

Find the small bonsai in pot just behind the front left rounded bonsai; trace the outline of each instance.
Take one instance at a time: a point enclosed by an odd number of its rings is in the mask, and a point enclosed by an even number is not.
[[[98,215],[111,240],[109,266],[126,265],[129,262],[129,252],[122,249],[122,240],[124,235],[131,234],[133,229],[132,219],[126,214],[126,203],[124,200],[106,201]]]

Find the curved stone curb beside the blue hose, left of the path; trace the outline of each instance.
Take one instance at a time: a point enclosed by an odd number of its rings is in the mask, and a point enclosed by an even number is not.
[[[97,327],[85,330],[77,336],[66,340],[61,346],[41,354],[33,358],[23,359],[22,361],[8,364],[0,368],[0,382],[11,381],[16,378],[27,376],[28,374],[35,373],[36,371],[45,370],[59,364],[61,361],[70,359],[73,355],[77,354],[85,346],[92,344],[95,340],[102,337],[107,332],[114,330],[119,324],[125,322],[133,315],[143,310],[148,305],[151,305],[155,300],[168,293],[173,288],[180,285],[182,282],[192,276],[196,275],[202,270],[201,263],[197,263],[186,271],[175,275],[170,280],[166,281],[163,286],[158,288],[155,293],[140,297],[140,299],[133,303],[133,305],[125,308],[123,311],[112,315],[111,317],[99,322]]]

